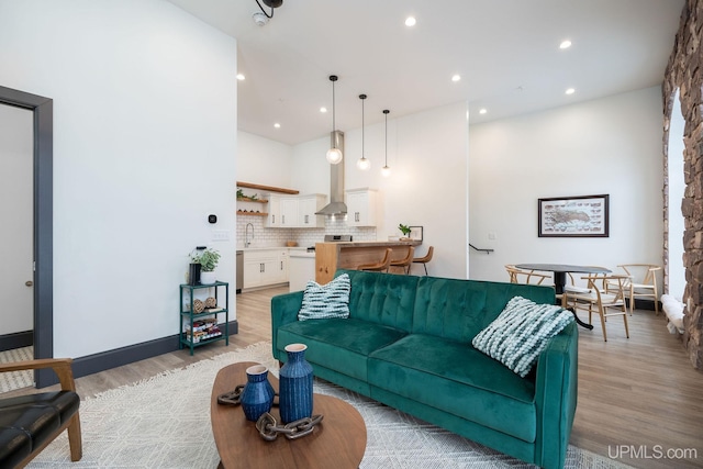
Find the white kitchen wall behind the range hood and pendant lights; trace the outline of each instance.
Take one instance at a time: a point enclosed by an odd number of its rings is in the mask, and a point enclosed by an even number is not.
[[[380,193],[377,239],[400,235],[398,225],[424,226],[423,245],[417,255],[435,246],[435,257],[429,265],[432,275],[442,277],[467,277],[467,199],[468,188],[468,125],[467,105],[459,102],[431,109],[417,114],[388,120],[388,165],[392,175],[381,176],[386,159],[386,125],[379,123],[364,130],[364,154],[371,161],[369,171],[357,169],[361,157],[361,129],[344,130],[345,133],[345,187],[346,189],[371,188]],[[241,142],[244,133],[239,132]],[[250,138],[250,154],[270,155],[275,142]],[[280,182],[305,193],[330,193],[330,164],[325,153],[330,148],[330,136],[316,138],[292,147],[290,182]],[[245,163],[243,145],[242,160],[237,170],[243,180],[259,177],[261,182],[271,180],[268,175],[257,172],[254,165]],[[281,152],[281,155],[284,152]],[[278,160],[266,160],[279,164]],[[283,163],[280,163],[283,165]],[[241,230],[243,231],[243,228]],[[325,231],[314,231],[322,241],[326,233],[354,232],[366,239],[368,233],[344,227],[343,222],[327,222]],[[293,235],[300,233],[291,233]],[[295,236],[293,236],[295,237]],[[298,236],[300,237],[300,236]],[[314,237],[314,236],[313,236]],[[301,245],[314,244],[306,236]]]

